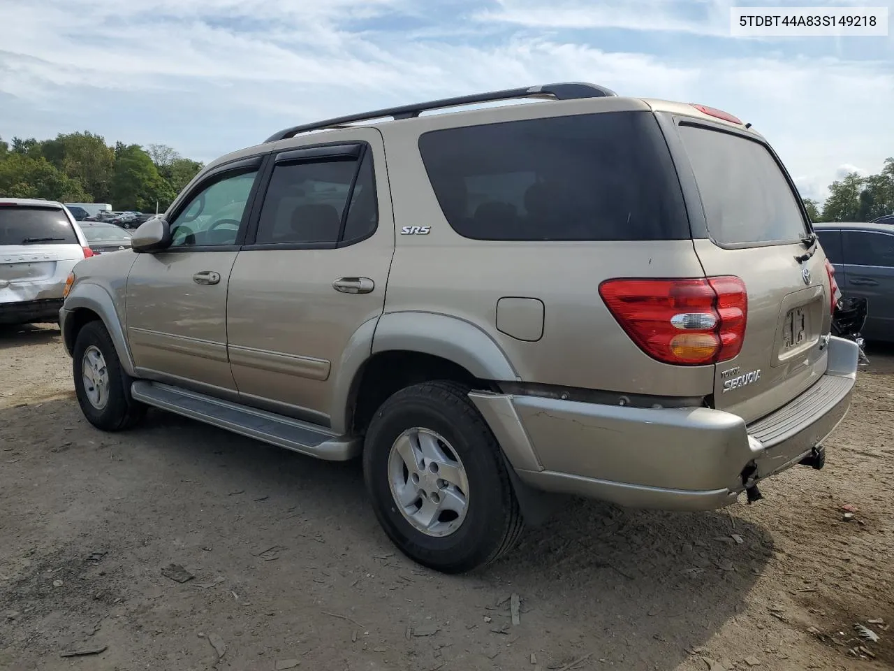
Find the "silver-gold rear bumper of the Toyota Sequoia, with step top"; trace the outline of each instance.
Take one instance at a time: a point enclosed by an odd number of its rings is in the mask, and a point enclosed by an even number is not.
[[[762,420],[710,408],[653,409],[474,392],[528,485],[619,505],[712,510],[800,462],[848,412],[856,344],[832,338],[826,373]]]

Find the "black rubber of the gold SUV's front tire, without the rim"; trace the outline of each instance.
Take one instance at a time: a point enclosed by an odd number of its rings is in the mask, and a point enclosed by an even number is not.
[[[91,345],[102,353],[105,368],[108,371],[108,401],[101,410],[90,403],[81,374],[84,352]],[[91,321],[80,329],[72,351],[72,372],[74,374],[74,391],[78,396],[80,410],[97,429],[104,431],[130,429],[143,419],[146,414],[146,406],[135,401],[131,396],[133,378],[122,369],[112,338],[101,321]]]

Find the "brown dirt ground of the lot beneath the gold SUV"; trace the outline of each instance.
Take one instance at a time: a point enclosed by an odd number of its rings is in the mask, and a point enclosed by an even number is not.
[[[358,464],[162,412],[100,433],[58,330],[0,330],[0,668],[892,668],[894,352],[871,358],[825,470],[714,514],[571,501],[447,577],[394,554]]]

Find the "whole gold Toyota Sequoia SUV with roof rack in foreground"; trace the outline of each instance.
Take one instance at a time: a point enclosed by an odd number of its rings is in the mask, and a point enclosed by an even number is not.
[[[546,99],[422,114],[513,98]],[[60,313],[88,420],[152,405],[362,455],[384,530],[444,572],[507,552],[544,492],[757,500],[822,467],[856,377],[763,137],[590,84],[285,129],[131,242],[75,268]]]

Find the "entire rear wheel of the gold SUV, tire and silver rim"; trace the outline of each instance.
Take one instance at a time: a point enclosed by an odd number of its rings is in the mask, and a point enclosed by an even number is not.
[[[468,387],[426,382],[392,395],[370,423],[363,466],[385,533],[419,564],[463,573],[519,539],[507,465]]]

